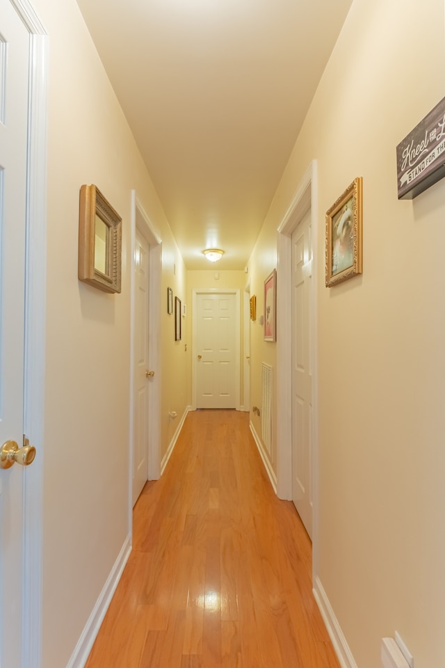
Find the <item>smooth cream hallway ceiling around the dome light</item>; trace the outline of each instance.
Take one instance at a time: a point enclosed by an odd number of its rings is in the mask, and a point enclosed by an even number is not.
[[[77,2],[187,269],[243,269],[352,0]]]

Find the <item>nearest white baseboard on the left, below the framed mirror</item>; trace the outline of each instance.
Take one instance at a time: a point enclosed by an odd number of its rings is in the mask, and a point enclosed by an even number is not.
[[[125,564],[131,553],[131,539],[127,536],[125,542],[120,550],[118,559],[116,559],[113,568],[111,569],[108,580],[102,589],[99,598],[97,599],[95,607],[92,609],[90,618],[88,619],[85,628],[82,631],[81,637],[76,644],[74,652],[67,664],[67,668],[83,668],[87,662],[92,645],[95,642],[99,628],[104,621],[105,613],[108,610],[108,605],[111,603],[113,594],[115,593],[118,582],[124,571]]]

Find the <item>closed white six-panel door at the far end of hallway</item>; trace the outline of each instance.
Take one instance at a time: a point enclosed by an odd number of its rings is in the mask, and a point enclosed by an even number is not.
[[[198,293],[195,317],[196,406],[238,408],[236,295]]]

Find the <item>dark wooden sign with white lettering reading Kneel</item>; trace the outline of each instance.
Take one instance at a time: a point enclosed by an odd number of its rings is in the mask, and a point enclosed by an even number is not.
[[[445,97],[397,147],[399,200],[412,200],[444,176]]]

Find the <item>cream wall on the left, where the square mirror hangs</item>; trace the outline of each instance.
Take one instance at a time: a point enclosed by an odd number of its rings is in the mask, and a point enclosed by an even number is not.
[[[163,291],[184,267],[161,205],[74,0],[35,0],[49,33],[47,358],[44,433],[43,659],[67,665],[129,524],[131,190],[163,239]],[[77,280],[79,188],[95,183],[123,218],[122,294]],[[182,278],[181,278],[182,277]],[[162,326],[167,320],[166,307]],[[184,365],[175,409],[184,411]],[[173,388],[173,389],[172,389]],[[165,399],[163,408],[170,407]],[[168,434],[163,432],[163,449]]]

